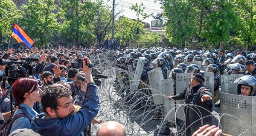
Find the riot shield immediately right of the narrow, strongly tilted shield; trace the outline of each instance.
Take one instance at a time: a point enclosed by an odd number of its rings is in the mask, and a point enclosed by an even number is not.
[[[162,92],[162,83],[163,80],[163,73],[161,68],[155,68],[151,71],[148,71],[148,83],[153,88],[151,90],[152,98],[154,104],[161,105],[163,104],[163,92]]]

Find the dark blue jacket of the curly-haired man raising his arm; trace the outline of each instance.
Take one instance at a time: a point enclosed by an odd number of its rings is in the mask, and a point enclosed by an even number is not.
[[[32,119],[31,129],[43,136],[83,136],[82,131],[90,124],[99,111],[99,96],[95,83],[87,84],[87,99],[76,114],[64,119],[45,118],[45,113]]]

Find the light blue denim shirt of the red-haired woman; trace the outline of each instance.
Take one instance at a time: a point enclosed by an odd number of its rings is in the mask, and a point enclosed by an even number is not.
[[[30,108],[29,106],[21,103],[19,105],[20,107],[23,107],[26,109],[27,113],[25,113],[27,116],[29,116],[30,119],[32,119],[35,115],[37,115],[38,113],[33,110],[32,108]],[[17,111],[15,112],[14,116],[17,115],[18,113],[24,113],[21,109],[17,109]],[[10,133],[12,133],[13,131],[20,129],[20,128],[30,128],[30,122],[29,119],[26,117],[20,117],[19,119],[15,120],[12,123],[12,128]]]

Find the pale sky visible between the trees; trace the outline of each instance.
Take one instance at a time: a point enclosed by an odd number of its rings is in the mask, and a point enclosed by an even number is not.
[[[104,3],[108,6],[112,7],[113,1],[112,0],[103,0]],[[136,12],[132,11],[130,7],[138,3],[140,5],[143,3],[143,6],[145,7],[144,13],[157,15],[157,12],[162,13],[163,9],[161,9],[161,5],[159,4],[159,1],[156,3],[155,0],[115,0],[116,8],[115,11],[122,11],[120,15],[124,15],[125,17],[131,18],[131,19],[137,19]],[[153,17],[148,17],[143,22],[151,24],[151,20],[154,20]]]

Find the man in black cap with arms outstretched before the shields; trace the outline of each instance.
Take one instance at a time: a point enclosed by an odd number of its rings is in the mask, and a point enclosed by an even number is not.
[[[168,99],[185,99],[186,115],[186,136],[191,136],[202,125],[212,125],[212,93],[203,84],[203,75],[193,73],[189,80],[189,88],[175,96],[168,96]],[[191,125],[191,126],[190,126]]]

